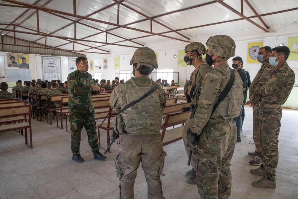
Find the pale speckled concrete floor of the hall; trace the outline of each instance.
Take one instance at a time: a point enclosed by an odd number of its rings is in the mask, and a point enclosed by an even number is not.
[[[276,189],[258,189],[251,185],[261,176],[250,169],[257,168],[247,152],[254,150],[252,140],[252,108],[245,106],[242,142],[237,143],[231,162],[232,195],[230,199],[287,199],[298,198],[298,111],[283,109],[279,136],[279,164],[276,169]],[[100,121],[97,121],[97,124]],[[33,149],[24,144],[25,138],[16,131],[0,133],[0,198],[102,198],[118,196],[114,156],[117,145],[107,153],[105,161],[93,159],[82,131],[80,153],[84,163],[72,161],[70,133],[65,129],[32,119]],[[101,133],[106,147],[105,133]],[[163,192],[165,198],[199,198],[196,185],[186,183],[187,156],[182,140],[164,147]],[[103,150],[100,150],[103,152]],[[135,198],[147,198],[147,184],[140,167],[135,183]]]

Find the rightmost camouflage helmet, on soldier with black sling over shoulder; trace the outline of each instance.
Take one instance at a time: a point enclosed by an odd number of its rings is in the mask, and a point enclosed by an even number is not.
[[[206,42],[207,47],[211,49],[214,55],[229,59],[235,55],[235,41],[226,35],[215,35]]]

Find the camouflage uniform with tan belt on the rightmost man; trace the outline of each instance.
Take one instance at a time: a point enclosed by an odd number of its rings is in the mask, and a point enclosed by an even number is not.
[[[294,86],[294,71],[285,62],[280,68],[275,68],[268,81],[254,93],[257,93],[260,103],[260,146],[264,157],[262,169],[273,180],[278,163],[278,135],[281,105],[285,103]]]

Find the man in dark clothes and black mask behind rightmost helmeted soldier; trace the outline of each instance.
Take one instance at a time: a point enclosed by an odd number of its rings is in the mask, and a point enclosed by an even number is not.
[[[241,137],[240,137],[240,132],[241,132],[241,126],[242,126],[242,110],[244,107],[244,104],[246,102],[246,97],[247,97],[247,76],[246,73],[241,69],[241,65],[242,65],[242,58],[241,57],[234,57],[232,59],[233,64],[232,67],[235,68],[235,70],[239,73],[242,82],[243,82],[243,95],[244,95],[244,99],[243,99],[243,104],[242,104],[242,108],[240,111],[240,115],[238,115],[236,118],[234,118],[235,122],[236,122],[236,127],[237,127],[237,140],[236,142],[241,142]]]

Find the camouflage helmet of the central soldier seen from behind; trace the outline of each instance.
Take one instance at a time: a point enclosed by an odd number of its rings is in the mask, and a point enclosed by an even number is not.
[[[136,49],[129,64],[137,64],[136,70],[142,65],[150,69],[158,68],[155,52],[148,47]]]

